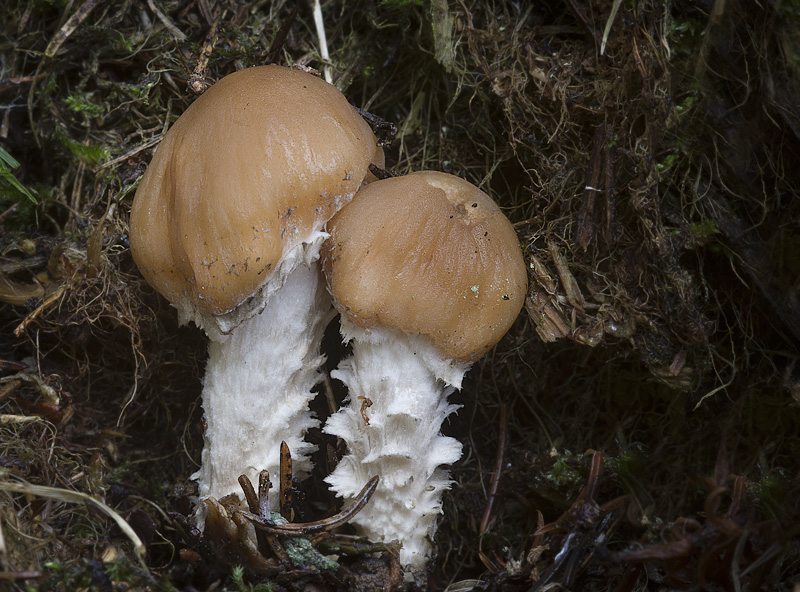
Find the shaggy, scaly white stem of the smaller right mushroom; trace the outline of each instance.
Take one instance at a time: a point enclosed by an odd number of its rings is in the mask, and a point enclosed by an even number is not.
[[[397,330],[364,330],[342,318],[342,335],[352,340],[353,356],[332,376],[347,386],[349,402],[324,431],[344,440],[348,454],[326,481],[350,500],[379,475],[378,489],[351,523],[373,540],[402,542],[401,564],[420,572],[451,484],[442,465],[461,457],[461,444],[440,433],[457,409],[447,395],[460,388],[469,364],[445,360],[427,338]]]

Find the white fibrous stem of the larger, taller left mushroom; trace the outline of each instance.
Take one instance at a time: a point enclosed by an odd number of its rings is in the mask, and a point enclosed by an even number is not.
[[[281,441],[289,446],[296,476],[311,469],[314,446],[304,435],[319,421],[308,403],[321,378],[319,346],[332,310],[318,264],[297,265],[265,304],[230,333],[209,332],[205,445],[202,466],[192,475],[201,499],[231,493],[241,499],[239,476],[258,487],[262,469],[276,487]],[[273,506],[277,497],[271,496]]]

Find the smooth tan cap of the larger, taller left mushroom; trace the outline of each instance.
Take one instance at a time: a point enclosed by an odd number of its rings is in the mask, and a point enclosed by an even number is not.
[[[383,151],[335,87],[261,66],[226,76],[164,136],[131,210],[145,279],[201,314],[234,310],[358,190]]]

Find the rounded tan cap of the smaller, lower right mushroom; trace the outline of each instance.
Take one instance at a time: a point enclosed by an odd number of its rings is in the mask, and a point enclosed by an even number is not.
[[[328,224],[322,261],[337,308],[363,328],[428,336],[474,361],[519,314],[527,273],[497,204],[445,173],[376,181]]]

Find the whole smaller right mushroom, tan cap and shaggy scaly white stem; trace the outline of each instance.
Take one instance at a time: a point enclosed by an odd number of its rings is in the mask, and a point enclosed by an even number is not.
[[[381,476],[352,523],[360,534],[401,541],[407,575],[420,577],[450,485],[442,465],[461,456],[461,444],[440,433],[457,408],[447,396],[517,317],[525,263],[494,201],[445,173],[371,183],[328,231],[323,270],[353,353],[332,373],[349,402],[323,431],[348,453],[327,481],[352,499]]]

